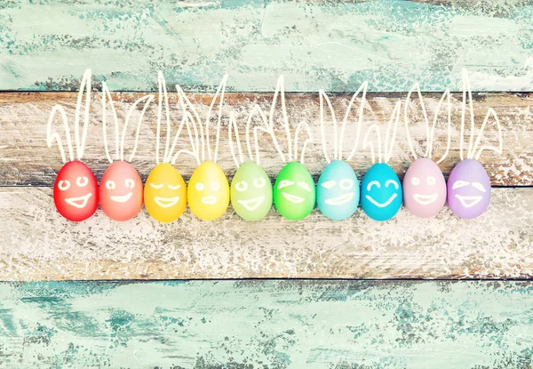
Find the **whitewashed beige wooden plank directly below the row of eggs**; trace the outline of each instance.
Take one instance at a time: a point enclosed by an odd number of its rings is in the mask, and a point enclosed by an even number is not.
[[[529,278],[533,189],[494,189],[489,210],[465,221],[448,208],[422,220],[402,209],[379,223],[358,210],[330,221],[314,210],[258,222],[230,208],[218,221],[187,209],[162,224],[143,209],[128,222],[100,210],[72,223],[50,188],[0,189],[0,280],[244,277]]]

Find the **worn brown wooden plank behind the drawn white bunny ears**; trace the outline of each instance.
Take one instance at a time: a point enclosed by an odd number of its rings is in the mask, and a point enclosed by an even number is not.
[[[169,88],[171,88],[169,86]],[[0,185],[33,185],[52,186],[57,172],[62,163],[60,152],[54,143],[52,148],[46,147],[46,121],[52,106],[60,103],[67,108],[68,119],[74,121],[76,107],[76,92],[4,92],[0,93]],[[131,107],[131,102],[141,96],[138,93],[114,94],[117,110],[123,115]],[[198,109],[200,116],[206,116],[211,103],[212,94],[191,94],[191,100]],[[172,132],[176,132],[179,124],[180,109],[177,106],[176,94],[171,94],[171,122]],[[531,99],[533,94],[511,93],[476,93],[474,94],[474,114],[476,129],[479,129],[483,117],[489,108],[494,108],[499,116],[503,128],[504,152],[502,155],[491,151],[484,151],[481,155],[481,164],[487,169],[489,178],[495,186],[531,186],[533,185],[533,152],[531,141],[533,140],[533,112]],[[338,94],[331,96],[336,116],[339,121],[345,115],[348,100],[351,95]],[[368,101],[371,110],[364,115],[362,124],[362,136],[372,123],[381,123],[382,133],[385,132],[386,123],[391,116],[394,104],[398,100],[405,100],[405,93],[394,94],[370,94]],[[430,122],[433,121],[434,109],[440,94],[425,94],[425,104]],[[91,105],[91,122],[88,128],[88,138],[84,153],[84,162],[91,167],[99,179],[107,169],[108,162],[102,144],[102,124],[100,95],[95,93]],[[459,161],[459,137],[461,116],[461,93],[454,93],[452,99],[452,131],[449,156],[441,164],[442,172],[448,175],[451,169]],[[272,102],[272,93],[227,93],[223,111],[223,128],[220,139],[219,164],[231,178],[235,172],[235,164],[228,150],[227,122],[229,111],[235,108],[241,138],[244,137],[244,128],[247,116],[254,104],[259,104],[264,111],[269,112]],[[352,108],[352,115],[347,124],[344,140],[345,157],[354,146],[356,136],[356,112],[358,105]],[[287,94],[287,110],[292,133],[298,122],[305,120],[311,126],[314,135],[314,143],[306,150],[306,166],[316,177],[326,165],[322,154],[320,133],[320,108],[318,94]],[[276,110],[279,112],[279,110]],[[139,114],[139,113],[137,113]],[[435,131],[434,158],[439,158],[444,153],[447,140],[445,110],[441,111],[437,129]],[[111,119],[109,116],[108,119]],[[156,140],[157,104],[153,103],[147,109],[145,120],[139,133],[139,148],[133,160],[134,166],[141,177],[145,179],[147,174],[155,166],[155,140]],[[410,134],[413,137],[418,155],[425,151],[426,129],[421,118],[421,108],[416,100],[410,100]],[[326,140],[330,155],[333,151],[332,124],[330,115],[326,115]],[[60,123],[55,128],[62,132]],[[287,152],[287,140],[279,122],[275,124],[276,136],[283,150]],[[211,145],[214,142],[214,130],[211,130]],[[477,132],[477,131],[476,131]],[[466,131],[465,142],[469,138],[470,130]],[[110,138],[114,135],[107,133]],[[485,139],[481,144],[489,143],[497,145],[497,128],[494,122],[489,122],[484,133]],[[164,131],[162,133],[164,139]],[[162,140],[163,140],[162,139]],[[65,139],[63,138],[63,141]],[[134,135],[126,136],[126,152],[133,146]],[[300,140],[301,142],[302,140]],[[112,144],[114,143],[111,141]],[[272,140],[265,134],[259,135],[261,148],[261,164],[274,179],[281,170],[283,162],[280,156],[272,148]],[[187,147],[187,138],[179,140],[179,148]],[[245,145],[244,145],[245,147]],[[111,146],[114,149],[114,146]],[[403,115],[400,128],[397,133],[393,156],[389,162],[396,172],[402,177],[412,163],[406,131],[404,129]],[[362,149],[362,139],[353,160],[349,162],[354,167],[359,178],[371,165],[370,151]],[[185,178],[190,177],[196,166],[191,156],[181,156],[177,167]]]

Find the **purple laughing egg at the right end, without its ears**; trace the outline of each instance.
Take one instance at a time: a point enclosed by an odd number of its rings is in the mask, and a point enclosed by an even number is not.
[[[449,209],[458,217],[472,219],[485,213],[490,203],[490,180],[476,160],[466,159],[456,165],[448,179]]]

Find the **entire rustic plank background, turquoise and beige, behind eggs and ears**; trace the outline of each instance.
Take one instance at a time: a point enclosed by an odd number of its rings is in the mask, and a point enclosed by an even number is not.
[[[0,366],[533,367],[531,284],[501,281],[533,274],[532,19],[528,0],[5,0]],[[480,159],[493,185],[489,211],[471,221],[448,209],[431,220],[402,209],[384,223],[361,210],[342,222],[318,211],[293,222],[273,210],[250,223],[231,208],[214,222],[188,210],[172,224],[144,210],[125,223],[101,211],[83,223],[65,221],[52,202],[62,164],[58,149],[46,147],[45,123],[56,103],[73,117],[85,68],[93,70],[94,103],[84,161],[98,179],[107,168],[101,82],[115,91],[123,117],[139,93],[157,91],[158,70],[169,91],[180,84],[201,113],[228,73],[224,116],[235,108],[241,130],[254,103],[268,110],[283,74],[292,127],[304,119],[315,136],[306,155],[315,178],[326,164],[319,89],[330,93],[340,120],[350,92],[369,81],[364,132],[370,123],[386,123],[413,82],[424,91],[430,120],[450,88],[453,136],[441,165],[447,176],[459,160],[467,68],[476,123],[491,107],[503,127],[503,154]],[[410,101],[410,112],[422,152],[418,100]],[[153,104],[133,162],[143,180],[155,166],[156,114]],[[171,116],[176,122],[177,108]],[[285,148],[281,126],[276,130]],[[219,164],[231,178],[235,165],[223,132]],[[353,132],[350,124],[346,151]],[[495,143],[496,133],[489,124],[484,142]],[[437,157],[445,140],[442,115]],[[131,147],[132,137],[126,142]],[[267,137],[260,144],[274,180],[282,161]],[[390,164],[402,177],[411,162],[401,128]],[[369,152],[359,149],[350,164],[361,179]],[[195,162],[177,166],[188,179]],[[328,280],[94,281],[264,277]]]

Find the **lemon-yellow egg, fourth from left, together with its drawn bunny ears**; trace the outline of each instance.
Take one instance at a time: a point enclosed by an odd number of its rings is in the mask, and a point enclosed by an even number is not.
[[[205,133],[200,116],[195,110],[191,101],[188,100],[185,92],[177,85],[180,100],[186,102],[186,114],[192,119],[194,126],[199,127],[200,143],[198,143],[198,134],[195,134],[195,157],[198,167],[193,172],[187,186],[187,202],[191,212],[203,221],[214,221],[222,214],[226,213],[229,205],[229,183],[226,174],[217,164],[220,140],[220,123],[222,120],[222,105],[224,103],[224,92],[226,90],[227,76],[224,76],[222,82],[215,92],[211,105],[207,111],[205,119]],[[211,151],[209,127],[211,122],[211,111],[218,100],[219,114],[217,119],[215,148]],[[189,111],[190,110],[190,111]],[[195,129],[195,133],[198,129]],[[205,137],[204,137],[205,135]],[[200,151],[200,148],[202,150]],[[207,151],[207,156],[205,155]],[[200,156],[202,154],[202,156]],[[207,158],[207,160],[206,160]]]

